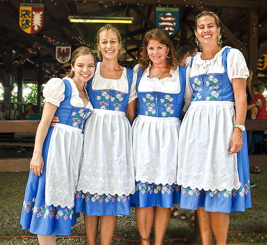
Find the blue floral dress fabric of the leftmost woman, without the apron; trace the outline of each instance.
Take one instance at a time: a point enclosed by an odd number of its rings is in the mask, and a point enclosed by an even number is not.
[[[74,108],[70,105],[71,86],[68,80],[64,80],[65,99],[56,110],[55,115],[60,117],[61,124],[67,124],[75,128],[83,127],[83,120],[91,113],[89,109]],[[79,116],[81,122],[73,126],[73,112],[84,112]],[[89,111],[88,111],[89,110]],[[86,114],[85,114],[86,112]],[[36,176],[30,171],[27,187],[24,197],[24,207],[22,209],[21,224],[22,229],[30,229],[31,233],[49,236],[49,235],[70,235],[71,226],[76,223],[79,213],[73,213],[73,208],[46,206],[45,203],[45,181],[46,181],[46,165],[47,154],[49,151],[50,139],[54,127],[50,127],[44,141],[42,156],[44,160],[43,174]],[[82,146],[80,146],[82,147]]]

